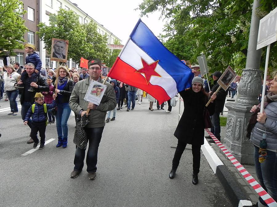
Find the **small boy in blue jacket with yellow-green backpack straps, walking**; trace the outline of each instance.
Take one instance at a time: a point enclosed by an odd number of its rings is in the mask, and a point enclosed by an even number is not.
[[[24,125],[27,125],[30,117],[32,117],[31,138],[34,140],[33,148],[38,146],[38,132],[40,136],[40,146],[38,149],[44,148],[45,143],[45,130],[47,125],[47,109],[52,109],[56,106],[56,98],[52,104],[44,104],[44,96],[41,93],[35,94],[35,102],[31,105],[24,119]]]

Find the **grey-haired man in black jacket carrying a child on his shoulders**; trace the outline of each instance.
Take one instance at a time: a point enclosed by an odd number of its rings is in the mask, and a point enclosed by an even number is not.
[[[40,92],[40,91],[49,91],[49,86],[46,83],[46,80],[44,78],[42,78],[42,76],[40,75],[38,77],[38,82],[30,82],[30,77],[32,77],[32,74],[34,73],[34,64],[33,63],[27,63],[25,65],[26,68],[26,72],[28,74],[28,77],[26,78],[26,82],[25,82],[25,87],[22,90],[22,94],[21,94],[21,98],[20,98],[20,104],[21,104],[21,117],[22,120],[25,119],[26,113],[28,112],[28,109],[30,109],[30,106],[34,103],[34,96],[36,94],[36,92]],[[19,80],[17,84],[22,84],[22,81]],[[29,92],[28,89],[30,88],[30,86],[34,87],[34,92]],[[31,128],[32,126],[32,121],[28,121],[28,126]],[[30,140],[27,142],[28,144],[33,143],[34,140],[32,138],[30,138]]]

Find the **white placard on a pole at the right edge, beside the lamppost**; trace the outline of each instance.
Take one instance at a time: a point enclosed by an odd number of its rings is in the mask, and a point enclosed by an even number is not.
[[[260,20],[257,50],[277,40],[277,7]]]

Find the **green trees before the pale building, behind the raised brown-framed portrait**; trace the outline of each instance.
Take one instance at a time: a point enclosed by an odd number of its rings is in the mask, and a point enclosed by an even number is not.
[[[67,58],[74,62],[85,59],[106,59],[108,56],[107,37],[97,32],[94,22],[80,24],[78,15],[72,10],[60,9],[58,14],[49,15],[49,26],[40,22],[37,32],[50,53],[52,38],[69,40]]]

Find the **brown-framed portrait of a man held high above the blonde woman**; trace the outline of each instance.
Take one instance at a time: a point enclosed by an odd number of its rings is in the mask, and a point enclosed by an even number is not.
[[[66,63],[68,43],[68,40],[52,38],[50,60]]]

